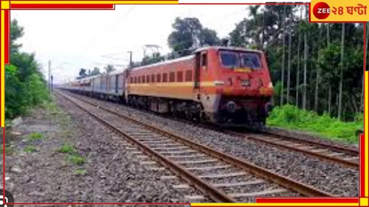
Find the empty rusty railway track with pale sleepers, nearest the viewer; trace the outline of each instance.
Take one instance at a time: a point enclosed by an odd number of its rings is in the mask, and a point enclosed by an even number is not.
[[[202,194],[187,196],[192,202],[206,198],[222,203],[239,203],[255,196],[334,196],[115,110],[57,92],[125,137],[134,146],[132,150],[139,148],[155,160],[145,161],[145,165],[159,164],[164,167],[157,169],[169,169],[184,180],[184,183],[173,187],[186,189],[193,186],[199,190]],[[162,179],[176,176],[163,176]]]

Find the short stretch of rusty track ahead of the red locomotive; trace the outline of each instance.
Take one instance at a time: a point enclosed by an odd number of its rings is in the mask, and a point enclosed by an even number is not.
[[[359,151],[357,150],[304,140],[296,137],[282,136],[269,132],[265,132],[263,134],[250,134],[227,130],[226,133],[238,137],[244,137],[258,143],[301,152],[319,159],[335,162],[346,167],[359,169]]]

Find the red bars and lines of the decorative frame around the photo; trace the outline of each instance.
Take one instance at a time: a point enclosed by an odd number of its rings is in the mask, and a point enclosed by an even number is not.
[[[97,1],[97,0],[96,0]],[[196,3],[183,3],[183,4],[196,4]],[[227,3],[198,3],[198,4],[227,4]],[[311,6],[310,3],[228,3],[228,4],[239,4],[239,5],[309,5],[309,14],[311,14]],[[10,4],[9,9],[5,9],[5,64],[10,64],[10,10],[65,10],[65,9],[76,9],[76,10],[111,10],[115,9],[114,4]],[[310,15],[309,15],[309,22],[311,22]],[[323,23],[323,22],[311,22],[311,23]],[[324,22],[324,23],[350,23],[350,22]],[[352,23],[352,22],[351,22]],[[355,23],[364,23],[366,22],[355,22]],[[364,27],[364,34],[366,32],[366,27]],[[364,35],[364,57],[366,53],[365,48],[365,35]],[[366,71],[366,59],[364,58],[364,73]],[[0,80],[1,83],[1,80]],[[365,93],[364,87],[364,93]],[[0,97],[1,101],[1,97]],[[364,126],[365,126],[365,112],[364,112]],[[364,188],[362,186],[365,185],[365,169],[362,166],[365,163],[365,136],[363,134],[360,135],[360,175],[359,175],[359,196],[365,196]],[[5,194],[5,128],[3,128],[3,194]],[[296,201],[302,203],[358,203],[359,197],[340,197],[340,198],[318,198],[318,197],[309,197],[309,198],[299,198],[299,197],[255,197],[255,203],[296,203]],[[344,202],[342,202],[344,200]],[[311,202],[313,201],[313,202]],[[12,204],[12,203],[7,203]],[[146,204],[146,205],[157,205],[157,204],[166,204],[166,205],[184,205],[190,203],[14,203],[14,204],[23,204],[23,205],[35,205],[35,204],[65,204],[65,205],[86,205],[86,204],[93,204],[93,205],[107,205],[107,204]],[[211,204],[209,205],[211,206]],[[226,205],[225,205],[226,206]]]

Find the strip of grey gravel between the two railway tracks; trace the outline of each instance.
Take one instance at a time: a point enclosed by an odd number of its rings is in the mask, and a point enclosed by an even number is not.
[[[95,102],[98,101],[97,99],[85,96],[81,97],[94,100]],[[308,157],[299,152],[253,143],[242,138],[204,129],[182,121],[168,119],[127,106],[117,105],[116,103],[104,101],[103,104],[111,109],[118,109],[121,113],[130,115],[144,123],[174,131],[201,144],[244,158],[256,165],[300,182],[313,185],[318,189],[337,196],[358,196],[359,172],[355,169],[345,168],[335,163]],[[300,136],[300,138],[304,137]]]

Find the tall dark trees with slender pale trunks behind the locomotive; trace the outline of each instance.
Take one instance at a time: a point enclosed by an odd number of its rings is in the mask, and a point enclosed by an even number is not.
[[[276,105],[341,120],[363,111],[363,24],[308,23],[307,5],[248,9],[249,16],[230,33],[230,44],[266,52]]]

